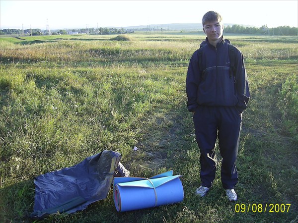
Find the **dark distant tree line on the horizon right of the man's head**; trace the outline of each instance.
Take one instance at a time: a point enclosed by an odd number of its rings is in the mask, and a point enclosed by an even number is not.
[[[298,28],[290,26],[279,26],[276,28],[268,28],[263,25],[260,28],[256,27],[244,27],[240,25],[232,25],[224,27],[225,33],[239,33],[239,34],[267,34],[267,35],[285,35],[285,36],[297,36]]]

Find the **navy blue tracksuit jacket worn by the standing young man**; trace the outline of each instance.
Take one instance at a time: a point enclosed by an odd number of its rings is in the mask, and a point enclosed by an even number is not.
[[[223,38],[215,48],[206,38],[202,60],[204,75],[199,68],[198,50],[191,57],[186,78],[189,111],[195,111],[199,105],[246,109],[250,93],[243,56],[237,51],[236,76],[230,76],[227,44]]]

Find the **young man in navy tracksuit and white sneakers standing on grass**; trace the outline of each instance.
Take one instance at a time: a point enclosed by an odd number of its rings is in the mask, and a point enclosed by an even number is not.
[[[227,198],[236,201],[234,187],[238,175],[235,163],[242,111],[250,98],[248,81],[243,55],[224,40],[222,16],[209,11],[203,16],[202,24],[207,38],[191,57],[186,77],[187,108],[193,112],[196,141],[201,153],[201,186],[196,189],[196,194],[204,197],[215,179],[217,161],[214,149],[218,137],[223,158],[222,184]]]

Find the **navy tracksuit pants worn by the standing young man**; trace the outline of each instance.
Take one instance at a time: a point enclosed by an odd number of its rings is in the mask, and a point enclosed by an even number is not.
[[[221,177],[224,189],[233,189],[238,181],[236,158],[242,114],[235,107],[199,106],[193,115],[196,141],[200,149],[201,185],[211,187],[215,179],[215,143],[218,137],[223,158]]]

